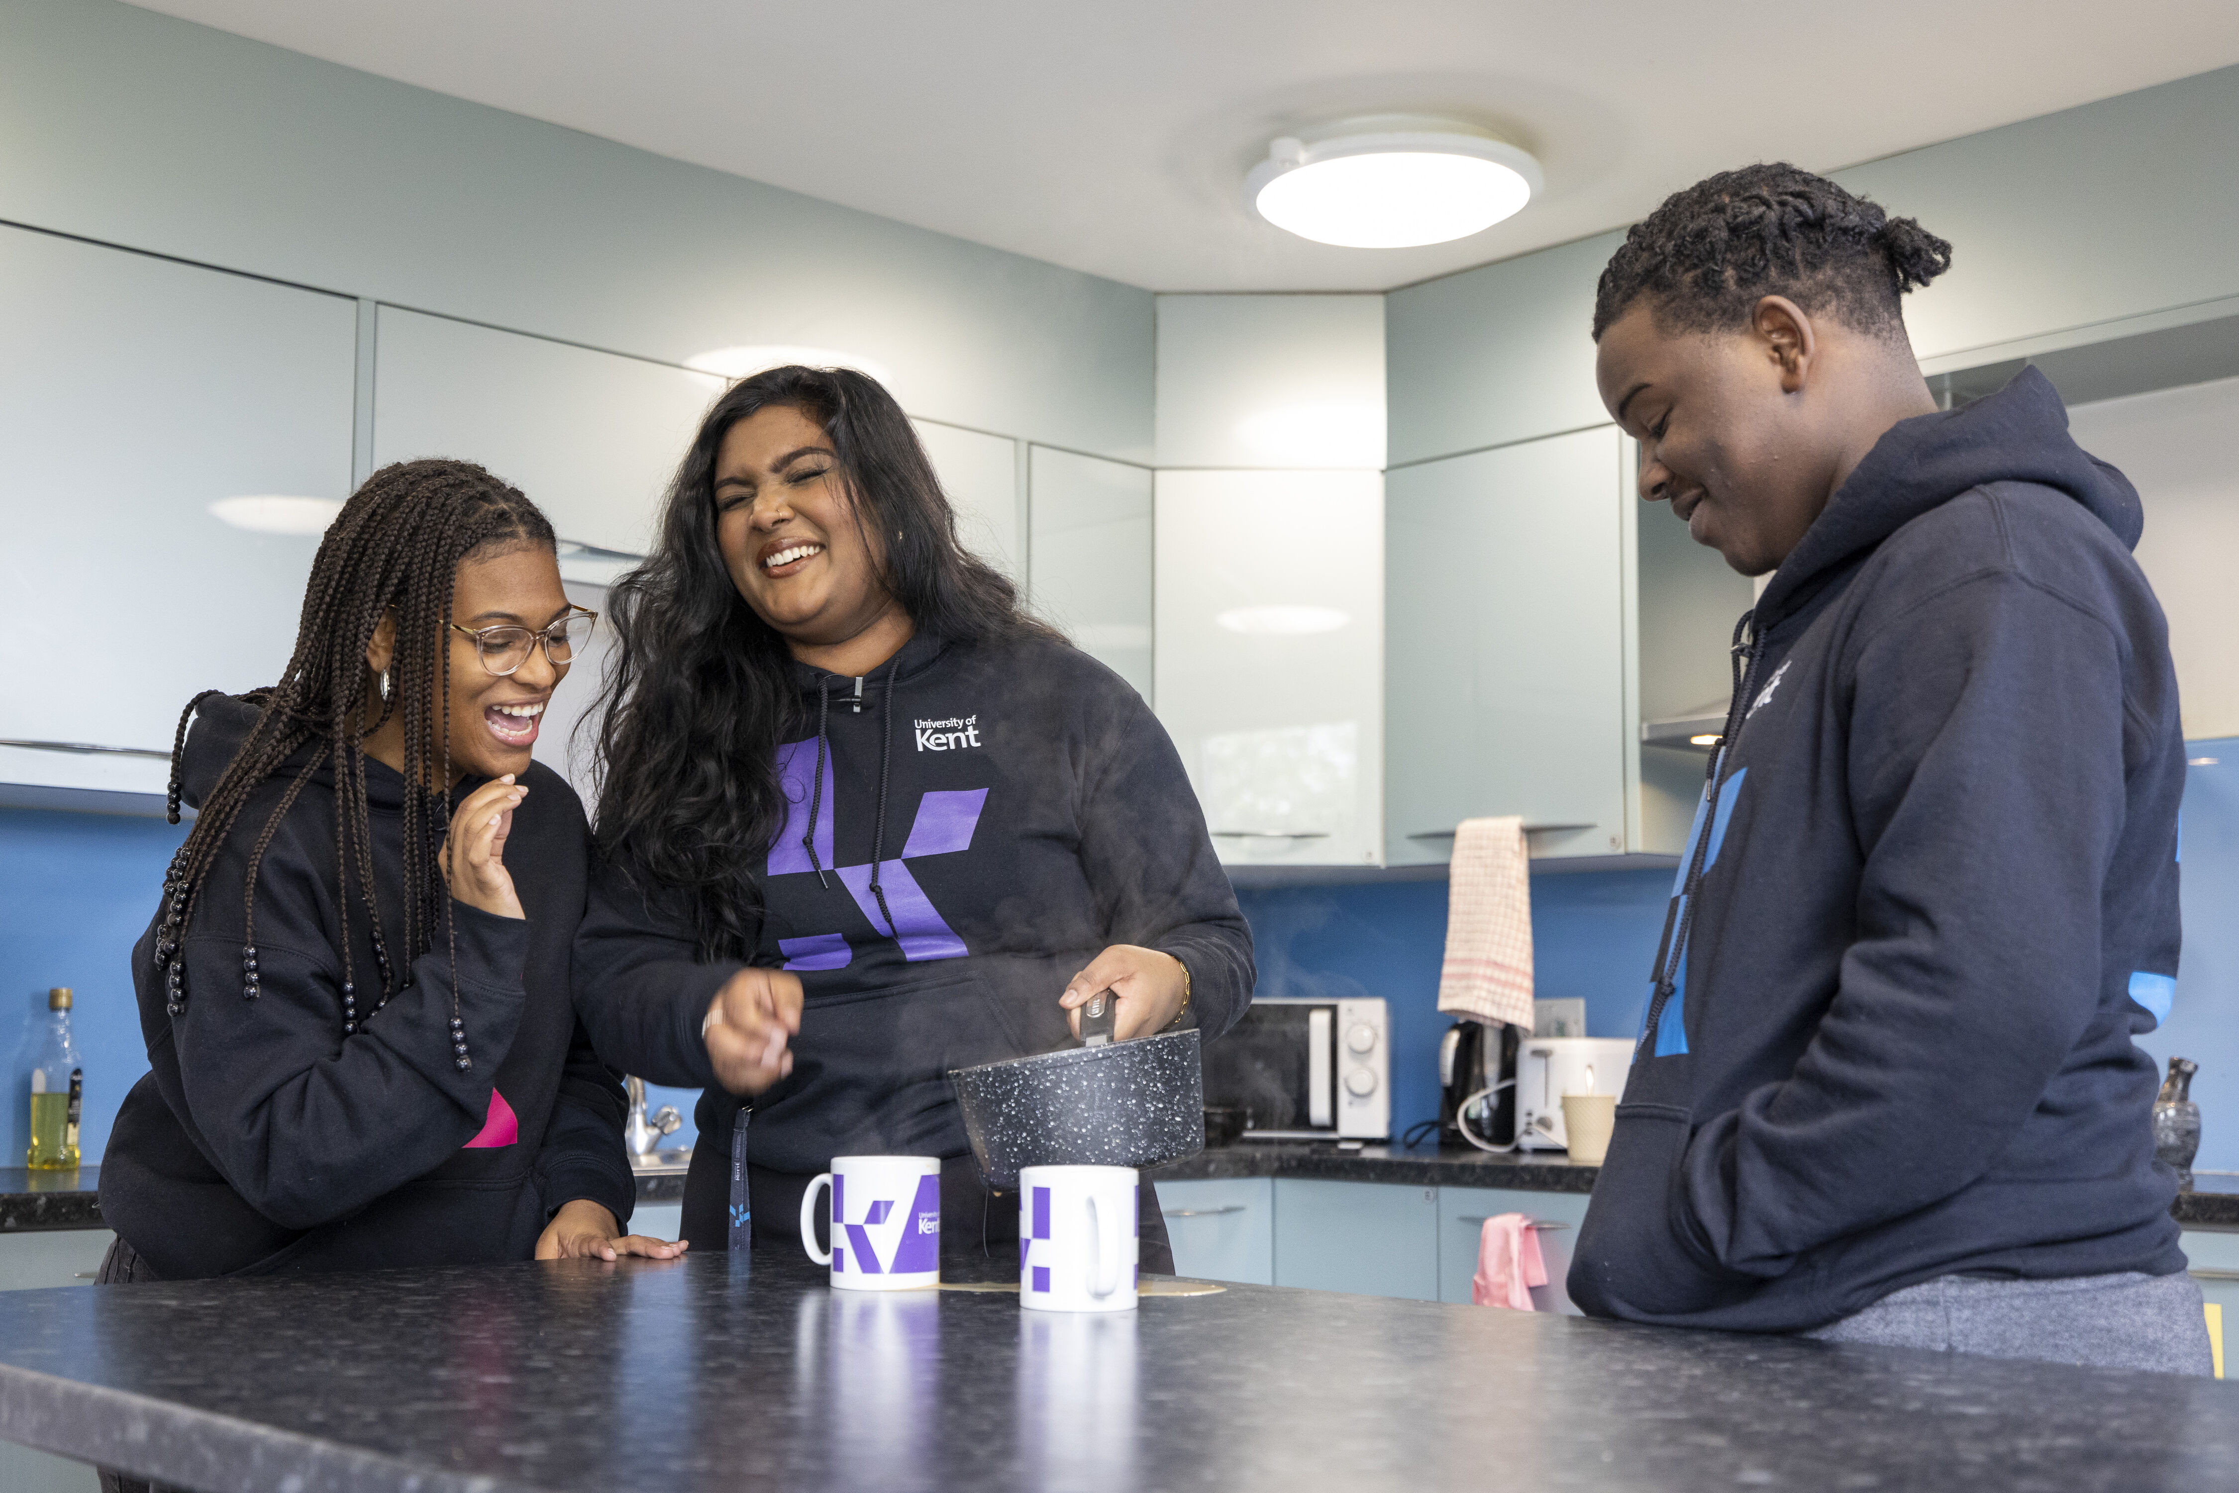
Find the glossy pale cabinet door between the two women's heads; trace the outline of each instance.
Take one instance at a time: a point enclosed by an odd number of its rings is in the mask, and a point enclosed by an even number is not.
[[[381,307],[374,463],[479,461],[562,539],[643,555],[721,392],[712,374]]]

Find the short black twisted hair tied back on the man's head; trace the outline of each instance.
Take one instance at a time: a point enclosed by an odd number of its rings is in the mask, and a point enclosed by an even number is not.
[[[1952,264],[1952,246],[1827,177],[1744,166],[1673,193],[1632,226],[1594,291],[1594,340],[1648,298],[1673,331],[1726,331],[1764,295],[1903,336],[1896,298]]]

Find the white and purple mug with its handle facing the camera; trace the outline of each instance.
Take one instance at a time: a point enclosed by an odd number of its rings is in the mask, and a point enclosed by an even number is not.
[[[1021,1168],[1019,1305],[1133,1312],[1140,1206],[1133,1166]]]

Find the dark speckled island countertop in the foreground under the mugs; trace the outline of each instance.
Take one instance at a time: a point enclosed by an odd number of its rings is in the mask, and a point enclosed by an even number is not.
[[[188,1489],[2221,1486],[2239,1386],[1236,1285],[1124,1314],[793,1251],[0,1294],[0,1435]]]

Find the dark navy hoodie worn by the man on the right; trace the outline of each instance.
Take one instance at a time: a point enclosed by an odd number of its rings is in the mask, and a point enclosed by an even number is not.
[[[1784,1332],[1948,1274],[2185,1267],[2132,1041],[2174,989],[2185,779],[2140,526],[2031,369],[1892,428],[1782,562],[1581,1307]]]

